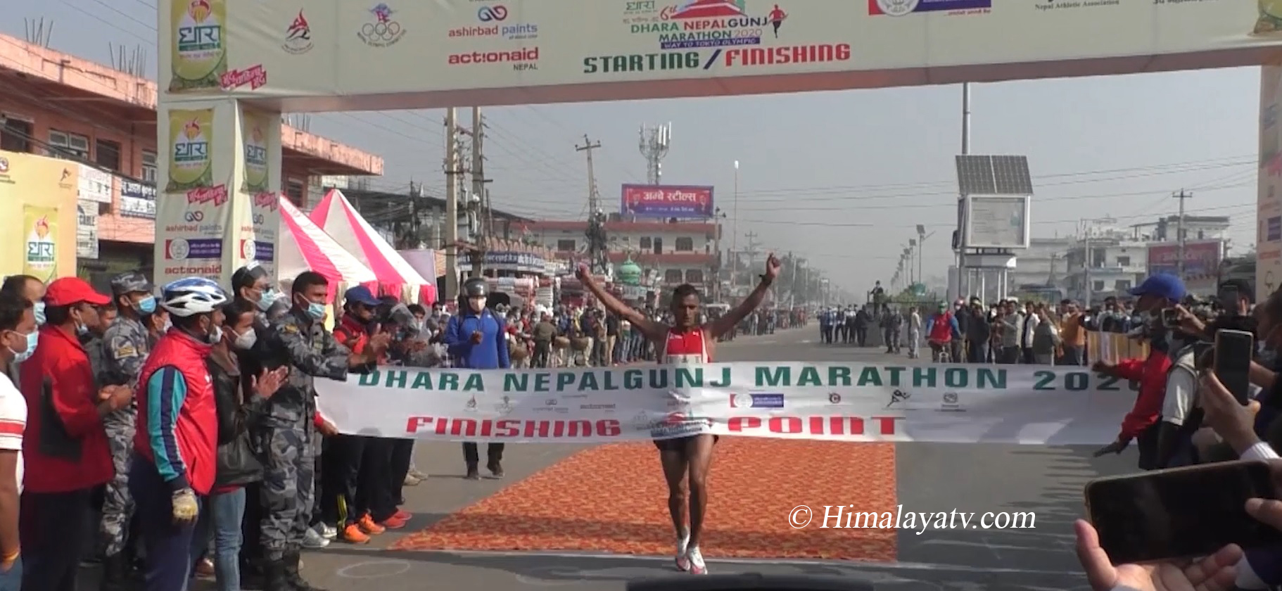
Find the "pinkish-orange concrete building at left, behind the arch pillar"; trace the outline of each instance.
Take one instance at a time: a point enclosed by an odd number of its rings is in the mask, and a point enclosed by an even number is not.
[[[304,209],[319,200],[322,174],[383,172],[382,158],[281,127],[281,191]],[[110,203],[97,204],[99,258],[81,259],[78,274],[97,279],[150,268],[155,82],[0,35],[0,150],[76,160],[109,178]]]

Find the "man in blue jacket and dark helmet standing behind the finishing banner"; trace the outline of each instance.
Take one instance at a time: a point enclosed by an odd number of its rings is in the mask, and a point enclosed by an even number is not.
[[[508,369],[506,328],[503,318],[486,309],[488,286],[481,277],[463,282],[459,295],[459,313],[450,317],[445,327],[445,345],[454,367],[468,369]],[[490,444],[486,450],[486,468],[495,478],[503,478],[503,444]],[[463,442],[463,460],[468,465],[467,478],[481,478],[481,462],[474,441]]]

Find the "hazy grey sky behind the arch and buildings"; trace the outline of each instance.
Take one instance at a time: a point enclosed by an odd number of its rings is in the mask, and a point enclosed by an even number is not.
[[[0,31],[22,37],[23,18],[53,19],[53,49],[103,63],[109,44],[142,45],[154,79],[155,1],[5,0]],[[1153,222],[1186,188],[1191,213],[1232,217],[1231,253],[1255,242],[1259,68],[977,85],[972,96],[972,153],[1028,155],[1033,236],[1105,215]],[[586,133],[603,145],[596,178],[617,208],[619,185],[645,178],[638,127],[672,122],[664,182],[714,185],[718,205],[737,209],[727,223],[741,249],[755,232],[763,249],[809,256],[864,292],[890,279],[918,223],[937,232],[926,274],[953,260],[960,97],[959,86],[928,86],[485,109],[490,190],[497,209],[582,219],[587,165],[574,145]],[[442,110],[318,114],[310,131],[381,155],[377,188],[415,179],[440,195],[442,122]]]

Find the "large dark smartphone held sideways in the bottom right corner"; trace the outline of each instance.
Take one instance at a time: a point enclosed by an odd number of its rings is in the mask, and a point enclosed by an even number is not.
[[[1282,470],[1282,467],[1277,468]],[[1228,544],[1282,544],[1282,531],[1246,514],[1247,499],[1278,499],[1265,462],[1224,462],[1086,483],[1086,513],[1113,564],[1205,556]]]

